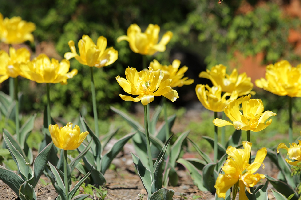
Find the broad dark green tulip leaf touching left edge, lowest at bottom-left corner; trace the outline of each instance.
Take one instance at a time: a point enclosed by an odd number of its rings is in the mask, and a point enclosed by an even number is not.
[[[16,194],[19,194],[20,186],[24,183],[24,180],[18,174],[14,173],[2,167],[0,165],[0,179],[8,185]]]

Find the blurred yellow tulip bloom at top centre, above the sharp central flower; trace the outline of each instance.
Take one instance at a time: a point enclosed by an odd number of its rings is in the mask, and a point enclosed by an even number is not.
[[[142,55],[154,55],[157,51],[163,52],[166,49],[166,44],[172,38],[172,32],[164,33],[159,41],[160,26],[157,24],[149,24],[144,33],[137,24],[132,24],[126,34],[117,38],[117,42],[126,40],[129,42],[131,50]]]

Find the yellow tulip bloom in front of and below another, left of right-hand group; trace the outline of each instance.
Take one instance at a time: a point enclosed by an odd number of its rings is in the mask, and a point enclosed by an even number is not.
[[[197,93],[197,98],[200,100],[202,105],[206,109],[208,109],[210,111],[214,111],[214,112],[224,111],[224,108],[227,105],[229,105],[229,103],[232,100],[237,99],[237,97],[238,97],[236,91],[234,91],[232,93],[225,92],[225,94],[222,96],[221,86],[209,87],[208,85],[205,86],[202,84],[198,84],[195,87],[195,92]],[[228,97],[228,96],[230,96],[230,98],[228,98],[226,100],[226,97]],[[237,101],[241,102],[242,98],[240,98]]]

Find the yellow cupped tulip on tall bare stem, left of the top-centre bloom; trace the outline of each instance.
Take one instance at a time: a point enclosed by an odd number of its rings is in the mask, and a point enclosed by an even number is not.
[[[76,53],[74,41],[68,42],[71,52],[65,53],[67,60],[75,58],[82,65],[89,67],[104,67],[112,64],[118,58],[118,51],[113,47],[107,47],[107,38],[100,36],[95,44],[88,35],[83,35],[78,42],[79,55]]]

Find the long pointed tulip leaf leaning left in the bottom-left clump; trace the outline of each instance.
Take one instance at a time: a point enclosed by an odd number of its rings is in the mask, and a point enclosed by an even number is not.
[[[9,152],[11,153],[11,156],[13,157],[14,162],[16,162],[17,167],[20,171],[20,175],[24,181],[29,180],[29,175],[32,175],[32,170],[29,166],[29,163],[26,164],[25,159],[23,156],[19,153],[19,151],[11,144],[8,137],[3,134],[3,138],[5,141],[6,146],[8,147]]]

